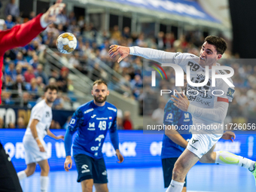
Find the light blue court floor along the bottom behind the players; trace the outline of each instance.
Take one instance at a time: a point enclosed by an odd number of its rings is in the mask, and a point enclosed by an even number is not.
[[[48,192],[80,192],[77,172],[52,171]],[[21,181],[24,192],[40,192],[40,172]],[[161,167],[108,169],[110,192],[164,192]],[[238,166],[194,166],[187,175],[187,192],[253,192],[256,191],[251,172]]]

